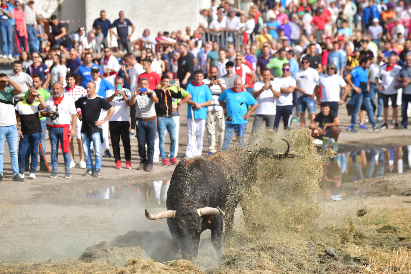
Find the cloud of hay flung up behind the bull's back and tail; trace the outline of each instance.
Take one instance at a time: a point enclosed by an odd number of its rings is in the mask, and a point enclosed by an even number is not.
[[[273,240],[302,232],[320,214],[316,196],[320,192],[319,178],[323,173],[323,159],[335,154],[326,150],[317,154],[308,129],[295,129],[275,133],[261,130],[252,136],[249,150],[270,148],[286,151],[288,140],[292,159],[256,157],[249,163],[240,187],[242,210],[248,237]]]

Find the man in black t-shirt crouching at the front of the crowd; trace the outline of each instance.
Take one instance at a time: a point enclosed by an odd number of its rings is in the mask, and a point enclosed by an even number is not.
[[[318,127],[316,122],[319,123]],[[326,149],[328,144],[331,143],[332,138],[334,138],[333,150],[338,151],[338,135],[339,135],[339,119],[334,111],[330,109],[330,103],[321,103],[321,112],[318,113],[309,125],[311,129],[311,136],[316,139],[323,140],[323,145],[321,148]],[[329,137],[330,139],[325,139],[324,137]]]

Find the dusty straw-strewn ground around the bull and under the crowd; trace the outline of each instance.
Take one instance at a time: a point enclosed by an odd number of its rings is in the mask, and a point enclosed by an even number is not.
[[[187,136],[184,113],[182,109],[180,159]],[[340,151],[411,145],[410,130],[351,134],[345,131],[349,117],[340,119]],[[252,118],[247,135],[251,126]],[[206,137],[204,144],[206,150]],[[48,141],[46,145],[50,159]],[[409,273],[411,173],[346,184],[361,191],[341,201],[319,197],[321,216],[312,229],[273,242],[253,242],[241,235],[239,208],[240,236],[224,242],[222,261],[217,262],[206,231],[199,258],[187,262],[173,261],[180,257],[171,248],[166,221],[153,223],[144,217],[146,206],[152,212],[164,209],[145,193],[152,191],[153,181],[169,180],[173,166],[157,163],[152,173],[115,170],[113,158],[103,158],[98,179],[85,179],[79,168],[72,169],[72,179],[64,179],[60,164],[57,179],[37,172],[36,180],[17,183],[12,181],[7,151],[6,145],[5,177],[0,182],[0,273]],[[137,141],[132,140],[133,168],[138,158]],[[137,183],[138,195],[87,198],[88,191]],[[365,207],[367,214],[357,216]]]

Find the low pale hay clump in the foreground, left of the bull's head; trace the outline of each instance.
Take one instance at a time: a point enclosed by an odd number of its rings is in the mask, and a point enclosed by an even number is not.
[[[143,249],[138,246],[116,247],[102,241],[85,248],[79,257],[82,262],[105,262],[108,265],[123,266],[129,258],[147,259]]]

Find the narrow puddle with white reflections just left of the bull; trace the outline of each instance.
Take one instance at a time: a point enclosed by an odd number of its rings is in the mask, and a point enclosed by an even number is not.
[[[155,202],[158,205],[165,205],[167,189],[169,189],[169,182],[170,180],[165,180],[142,184],[125,184],[112,186],[106,189],[88,191],[85,193],[85,197],[97,199],[133,198],[140,201],[155,199]]]

